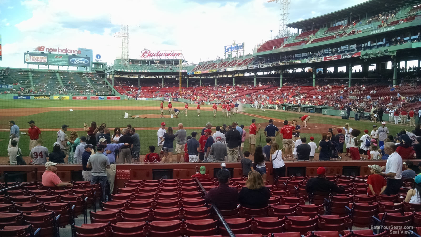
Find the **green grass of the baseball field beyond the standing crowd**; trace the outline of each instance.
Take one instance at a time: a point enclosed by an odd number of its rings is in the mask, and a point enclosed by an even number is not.
[[[13,114],[7,113],[7,110],[3,110],[0,115],[0,124],[2,129],[8,129],[8,120],[13,119],[15,123],[19,126],[21,132],[27,132],[29,127],[27,122],[34,120],[36,125],[41,129],[56,129],[61,127],[62,124],[69,125],[67,134],[70,135],[72,129],[83,128],[83,123],[86,121],[90,123],[91,121],[96,121],[97,124],[106,123],[107,127],[111,130],[114,127],[124,128],[127,124],[131,124],[132,127],[145,127],[145,128],[154,128],[153,130],[138,130],[137,132],[140,135],[141,140],[141,154],[147,154],[149,145],[157,145],[157,129],[160,127],[161,122],[165,122],[167,127],[173,127],[174,132],[177,129],[179,123],[183,123],[184,127],[204,127],[207,122],[213,124],[213,131],[215,131],[215,126],[222,126],[222,124],[231,124],[234,121],[237,121],[239,124],[244,124],[245,130],[248,132],[248,127],[250,126],[251,119],[256,118],[256,123],[261,124],[262,127],[266,126],[268,123],[266,118],[261,118],[261,116],[273,118],[275,120],[288,120],[291,121],[293,118],[298,120],[299,116],[303,114],[294,113],[294,112],[285,112],[280,110],[257,110],[254,108],[244,108],[243,112],[247,114],[234,114],[232,118],[222,118],[221,111],[218,110],[217,117],[213,118],[213,111],[202,110],[200,117],[197,117],[195,105],[191,105],[188,112],[188,116],[184,116],[184,104],[180,102],[175,102],[174,107],[179,108],[182,112],[179,114],[179,119],[175,118],[135,118],[135,119],[124,119],[124,113],[129,114],[159,114],[159,101],[111,101],[111,100],[0,100],[0,108],[21,108],[24,111],[36,110],[36,108],[49,108],[49,107],[69,107],[74,111],[49,111],[43,113],[36,113],[29,116],[16,116]],[[110,110],[105,107],[107,106],[118,106],[118,110]],[[133,110],[133,106],[153,106],[156,107],[156,110]],[[78,110],[80,107],[104,107],[104,110],[93,109],[93,110]],[[204,106],[209,107],[209,106]],[[255,117],[257,116],[257,117]],[[350,124],[353,129],[368,129],[370,132],[372,130],[373,123],[370,121],[354,121],[354,120],[343,120],[340,117],[333,118],[330,116],[323,116],[320,114],[310,114],[310,126],[312,124],[318,124],[317,131],[315,129],[302,130],[301,136],[306,136],[307,140],[309,137],[313,136],[314,141],[318,144],[318,141],[321,138],[321,132],[327,132],[328,128],[333,126],[343,126],[346,122]],[[278,123],[279,124],[279,123]],[[299,124],[302,124],[301,122]],[[380,126],[380,124],[377,124]],[[278,125],[279,126],[279,125]],[[390,134],[396,135],[402,128],[409,128],[407,126],[400,126],[394,124],[387,124]],[[200,134],[201,129],[195,129],[196,132]],[[56,141],[57,131],[44,131],[43,132],[43,141],[44,146],[52,149],[53,143]],[[192,129],[187,129],[188,134],[192,132]],[[336,130],[335,130],[336,133]],[[86,135],[86,132],[78,131],[78,135]],[[8,145],[8,130],[2,130],[0,132],[0,156],[7,156],[7,145]],[[198,137],[197,137],[198,138]],[[265,145],[264,133],[261,132],[261,143]],[[257,143],[259,143],[259,137],[257,137]],[[277,142],[282,144],[282,138],[277,137]],[[29,137],[22,136],[19,142],[19,147],[22,149],[24,156],[29,155]],[[175,145],[174,145],[175,147]],[[248,137],[246,137],[246,143],[244,150],[248,149]]]

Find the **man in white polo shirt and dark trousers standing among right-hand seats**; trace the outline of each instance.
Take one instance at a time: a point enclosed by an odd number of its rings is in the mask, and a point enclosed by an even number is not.
[[[399,193],[402,185],[402,158],[396,153],[396,145],[393,142],[384,143],[384,152],[389,154],[389,157],[386,166],[383,167],[385,172],[380,174],[387,180],[384,194],[390,196]]]

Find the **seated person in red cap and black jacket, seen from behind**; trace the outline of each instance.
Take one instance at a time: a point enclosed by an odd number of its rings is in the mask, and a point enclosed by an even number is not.
[[[327,136],[327,135],[326,135]],[[345,189],[343,186],[337,186],[332,181],[326,179],[325,167],[317,168],[317,177],[309,179],[306,184],[306,191],[309,194],[318,192],[336,192],[338,194],[344,193]]]

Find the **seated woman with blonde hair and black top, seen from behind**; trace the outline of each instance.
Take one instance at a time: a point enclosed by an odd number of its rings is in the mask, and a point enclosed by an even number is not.
[[[270,193],[269,189],[264,186],[260,173],[256,170],[250,171],[245,185],[247,188],[243,187],[238,197],[241,206],[250,209],[267,207]]]

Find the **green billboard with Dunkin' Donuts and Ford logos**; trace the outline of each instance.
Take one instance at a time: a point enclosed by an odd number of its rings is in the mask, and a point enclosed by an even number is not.
[[[66,54],[24,53],[24,63],[27,64],[90,67],[90,60],[89,57]]]

